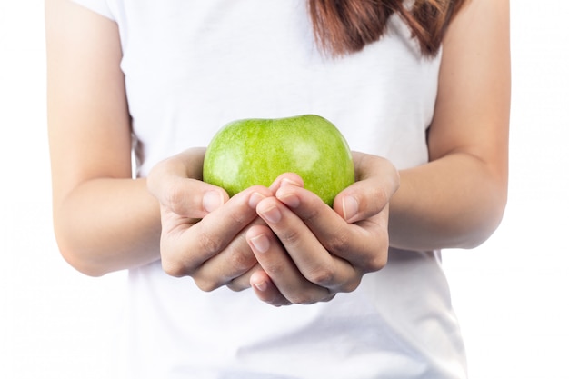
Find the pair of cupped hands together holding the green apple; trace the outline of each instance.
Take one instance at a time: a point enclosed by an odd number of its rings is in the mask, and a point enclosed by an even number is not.
[[[205,291],[253,286],[269,304],[311,304],[353,291],[386,263],[387,204],[399,177],[384,159],[354,153],[358,181],[333,209],[294,174],[229,199],[201,181],[204,153],[190,149],[148,175],[167,274],[191,276]]]

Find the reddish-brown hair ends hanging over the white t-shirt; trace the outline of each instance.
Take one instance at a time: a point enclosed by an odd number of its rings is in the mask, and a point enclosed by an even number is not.
[[[465,0],[309,0],[314,36],[331,55],[355,53],[384,35],[391,15],[400,15],[421,46],[421,53],[434,56],[444,32]]]

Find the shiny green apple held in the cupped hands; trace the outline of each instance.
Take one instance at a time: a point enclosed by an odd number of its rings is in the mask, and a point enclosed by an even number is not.
[[[295,173],[304,188],[332,206],[354,183],[354,161],[344,136],[318,115],[244,119],[225,125],[207,147],[204,181],[233,196]]]

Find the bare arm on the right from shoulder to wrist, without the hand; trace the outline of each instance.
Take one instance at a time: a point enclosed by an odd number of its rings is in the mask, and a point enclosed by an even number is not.
[[[506,203],[508,1],[467,2],[443,46],[430,163],[402,171],[391,201],[391,244],[404,249],[481,244],[500,223]]]

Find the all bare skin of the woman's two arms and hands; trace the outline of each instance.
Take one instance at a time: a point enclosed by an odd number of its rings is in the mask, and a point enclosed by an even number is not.
[[[389,245],[472,248],[501,221],[508,1],[468,2],[444,38],[430,162],[397,172],[354,152],[357,182],[333,208],[290,173],[229,199],[200,180],[204,148],[132,179],[117,26],[64,0],[46,0],[45,10],[55,235],[85,274],[162,259],[167,274],[192,276],[205,291],[252,287],[267,304],[312,304],[353,291],[384,267]]]

